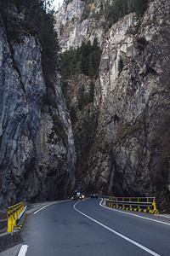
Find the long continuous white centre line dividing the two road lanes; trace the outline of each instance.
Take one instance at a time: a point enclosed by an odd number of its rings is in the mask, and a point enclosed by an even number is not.
[[[129,241],[129,242],[133,243],[133,245],[135,245],[135,246],[137,246],[137,247],[143,249],[145,252],[150,253],[151,255],[154,255],[154,256],[161,256],[160,254],[157,254],[157,253],[151,251],[151,250],[148,249],[147,247],[144,247],[143,245],[139,244],[138,242],[133,241],[132,239],[128,238],[127,236],[122,235],[121,233],[117,232],[116,230],[112,230],[110,227],[106,226],[105,224],[102,224],[102,223],[100,223],[98,220],[96,220],[96,219],[94,219],[94,218],[91,218],[91,217],[89,217],[87,214],[85,214],[85,213],[79,211],[79,210],[76,208],[76,205],[77,205],[78,203],[80,203],[80,201],[77,201],[77,203],[73,206],[73,208],[74,208],[77,212],[81,213],[83,216],[85,216],[85,217],[87,217],[87,218],[93,220],[95,223],[99,224],[100,226],[102,226],[102,227],[105,228],[106,230],[109,230],[109,231],[111,231],[112,233],[116,234],[116,236],[120,236],[120,237],[122,237],[123,239],[125,239],[126,241]]]

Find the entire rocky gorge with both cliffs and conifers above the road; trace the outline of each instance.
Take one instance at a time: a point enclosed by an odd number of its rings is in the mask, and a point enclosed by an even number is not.
[[[170,211],[170,3],[120,3],[65,0],[54,21],[0,1],[1,207],[96,190]]]

